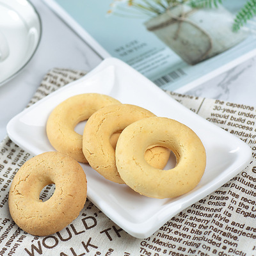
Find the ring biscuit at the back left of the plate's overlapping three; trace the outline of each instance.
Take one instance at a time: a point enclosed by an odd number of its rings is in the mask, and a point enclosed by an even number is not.
[[[76,161],[88,163],[82,150],[82,135],[74,129],[100,108],[118,103],[118,100],[99,93],[83,93],[64,100],[53,109],[47,120],[46,132],[52,147]]]

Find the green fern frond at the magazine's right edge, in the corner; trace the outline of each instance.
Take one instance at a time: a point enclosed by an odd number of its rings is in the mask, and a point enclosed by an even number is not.
[[[256,0],[249,0],[237,13],[233,24],[233,31],[238,31],[246,22],[256,15]]]

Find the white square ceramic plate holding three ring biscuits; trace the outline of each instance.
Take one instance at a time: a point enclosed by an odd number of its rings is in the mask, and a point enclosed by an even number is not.
[[[193,191],[178,198],[147,198],[125,184],[104,179],[90,166],[81,164],[88,179],[88,198],[111,220],[134,237],[145,238],[189,205],[232,179],[249,163],[252,151],[243,141],[206,121],[172,99],[136,70],[115,58],[108,58],[81,79],[51,93],[10,120],[10,138],[33,155],[53,151],[45,124],[60,102],[79,93],[102,93],[122,103],[134,104],[157,116],[188,125],[204,143],[207,166]]]

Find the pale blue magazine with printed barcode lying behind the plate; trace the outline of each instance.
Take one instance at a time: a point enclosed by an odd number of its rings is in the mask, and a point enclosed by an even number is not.
[[[166,11],[167,20],[165,16],[159,16],[163,24],[170,23],[170,17],[175,15],[182,17],[182,20],[171,20],[170,26],[159,29],[150,21],[152,13],[143,15],[143,8],[127,5],[138,2],[141,6],[145,3],[154,6],[172,1],[42,1],[102,58],[118,58],[160,88],[172,92],[188,92],[256,54],[255,20],[251,20],[239,32],[231,33],[234,17],[243,7],[244,1],[226,0],[216,10],[186,10],[185,7],[181,13],[169,10]],[[227,30],[223,30],[225,26]],[[213,35],[215,29],[220,38]],[[219,45],[219,42],[222,46],[227,44],[227,47],[223,46],[223,51],[212,52],[211,57],[204,61],[195,61],[191,56],[194,53],[200,56],[198,52],[204,52],[204,49],[206,54],[206,49],[211,48],[211,45],[214,49],[214,45]],[[183,44],[184,47],[181,47]],[[188,63],[188,59],[193,59],[192,64]]]

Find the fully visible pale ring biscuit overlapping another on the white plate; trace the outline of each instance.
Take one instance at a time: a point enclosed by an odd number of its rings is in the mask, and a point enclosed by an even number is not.
[[[150,145],[168,147],[177,164],[170,170],[150,166],[144,152]],[[116,144],[116,167],[124,182],[141,195],[172,198],[195,188],[206,164],[202,141],[188,126],[164,117],[134,122]]]

